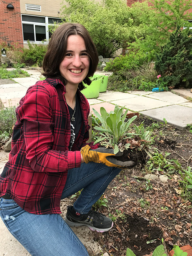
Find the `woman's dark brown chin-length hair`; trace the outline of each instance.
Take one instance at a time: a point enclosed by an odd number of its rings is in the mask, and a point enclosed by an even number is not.
[[[90,76],[93,76],[98,65],[98,53],[96,47],[91,39],[86,28],[79,23],[64,23],[60,25],[53,35],[48,44],[48,50],[43,59],[43,75],[48,78],[59,78],[63,81],[64,85],[67,84],[67,80],[60,73],[60,63],[63,61],[67,49],[67,39],[70,35],[80,35],[85,42],[86,50],[90,58],[89,71],[84,78],[83,82],[90,85]],[[85,87],[83,83],[79,83],[79,90],[83,90]]]

